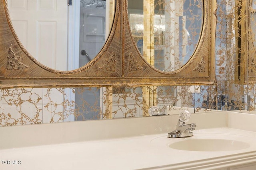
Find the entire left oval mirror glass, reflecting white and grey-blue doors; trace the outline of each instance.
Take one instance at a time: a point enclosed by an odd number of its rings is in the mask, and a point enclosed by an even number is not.
[[[114,0],[8,0],[22,45],[40,63],[62,71],[84,66],[100,52],[114,8]]]

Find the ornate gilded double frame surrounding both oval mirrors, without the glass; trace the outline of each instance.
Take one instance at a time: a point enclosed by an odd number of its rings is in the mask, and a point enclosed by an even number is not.
[[[215,82],[216,0],[203,0],[204,19],[198,46],[173,72],[146,62],[132,37],[127,0],[116,0],[114,23],[100,53],[72,71],[46,67],[20,43],[10,20],[7,0],[0,1],[0,88],[77,86],[208,85]]]

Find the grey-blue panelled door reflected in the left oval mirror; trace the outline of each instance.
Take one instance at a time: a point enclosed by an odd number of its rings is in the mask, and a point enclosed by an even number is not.
[[[104,6],[80,4],[79,67],[90,62],[102,49],[105,43],[105,16]]]

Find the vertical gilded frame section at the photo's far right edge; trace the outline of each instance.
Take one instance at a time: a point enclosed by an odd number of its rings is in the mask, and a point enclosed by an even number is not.
[[[256,82],[256,47],[251,25],[252,0],[236,1],[236,76],[238,84]],[[240,30],[240,31],[238,31]]]

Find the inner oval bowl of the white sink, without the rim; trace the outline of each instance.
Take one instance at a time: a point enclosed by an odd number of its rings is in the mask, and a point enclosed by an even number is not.
[[[248,143],[229,139],[188,139],[168,145],[172,149],[190,151],[230,151],[250,147]]]

